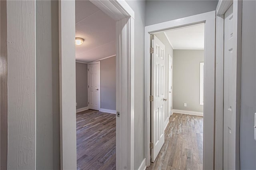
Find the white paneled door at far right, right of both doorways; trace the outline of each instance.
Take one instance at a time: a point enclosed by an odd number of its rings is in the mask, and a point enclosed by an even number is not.
[[[236,56],[233,53],[233,5],[224,14],[223,168],[236,169]]]

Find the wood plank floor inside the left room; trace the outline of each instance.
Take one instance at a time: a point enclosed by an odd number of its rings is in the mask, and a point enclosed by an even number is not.
[[[87,110],[76,114],[78,170],[116,169],[116,115]]]

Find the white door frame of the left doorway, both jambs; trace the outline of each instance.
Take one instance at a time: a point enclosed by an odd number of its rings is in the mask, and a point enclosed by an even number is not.
[[[116,20],[116,168],[134,169],[134,11],[122,0],[91,0]],[[59,1],[60,167],[76,169],[75,0]],[[73,113],[73,114],[72,114]]]

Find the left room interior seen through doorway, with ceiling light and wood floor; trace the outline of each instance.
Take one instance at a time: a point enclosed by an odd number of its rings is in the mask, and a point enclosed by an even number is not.
[[[77,169],[116,167],[116,23],[76,0]]]

